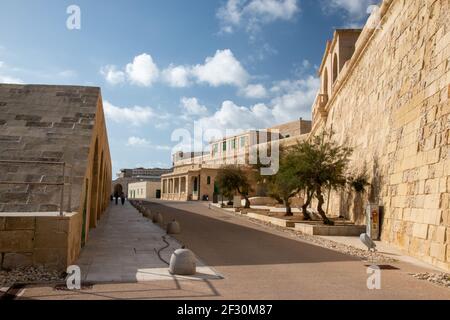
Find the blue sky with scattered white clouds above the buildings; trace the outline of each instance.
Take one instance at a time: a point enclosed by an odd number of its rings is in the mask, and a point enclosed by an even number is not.
[[[1,0],[0,82],[99,86],[113,170],[170,167],[174,131],[310,119],[326,40],[377,2]]]

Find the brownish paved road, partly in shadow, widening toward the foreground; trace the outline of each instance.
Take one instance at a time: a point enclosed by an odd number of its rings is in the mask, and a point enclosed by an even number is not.
[[[96,285],[81,293],[30,288],[28,298],[110,299],[450,299],[450,290],[413,278],[406,264],[383,270],[381,290],[367,289],[367,263],[291,238],[245,217],[203,203],[154,202],[165,221],[177,219],[177,240],[224,276],[220,280],[151,281]]]

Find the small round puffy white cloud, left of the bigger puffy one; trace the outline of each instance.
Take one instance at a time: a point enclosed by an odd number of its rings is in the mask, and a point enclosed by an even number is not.
[[[127,64],[126,73],[132,84],[150,87],[159,76],[157,65],[151,55],[143,53],[134,57],[132,63]]]

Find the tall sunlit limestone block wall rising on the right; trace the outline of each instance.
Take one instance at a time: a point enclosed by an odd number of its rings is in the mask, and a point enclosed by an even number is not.
[[[384,206],[382,240],[449,270],[450,0],[385,0],[381,17],[313,130],[331,128],[354,148],[351,170],[372,182],[362,201]],[[330,208],[364,222],[354,203],[334,193]]]

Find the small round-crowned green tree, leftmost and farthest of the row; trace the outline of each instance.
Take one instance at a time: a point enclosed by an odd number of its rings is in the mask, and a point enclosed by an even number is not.
[[[224,166],[219,169],[216,181],[222,194],[238,193],[245,199],[245,208],[250,208],[249,194],[252,192],[252,187],[247,168],[235,165]]]

